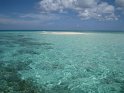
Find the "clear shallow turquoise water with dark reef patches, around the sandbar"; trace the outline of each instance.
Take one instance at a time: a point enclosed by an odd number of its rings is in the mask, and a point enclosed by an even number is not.
[[[0,33],[0,93],[124,93],[124,33]]]

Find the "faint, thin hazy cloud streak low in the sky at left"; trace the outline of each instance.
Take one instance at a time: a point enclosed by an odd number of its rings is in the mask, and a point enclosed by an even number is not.
[[[0,15],[0,24],[20,24],[20,25],[42,24],[43,25],[48,21],[58,20],[59,18],[60,17],[57,16],[56,14],[44,14],[44,13],[19,14],[17,18],[12,18],[12,16]]]

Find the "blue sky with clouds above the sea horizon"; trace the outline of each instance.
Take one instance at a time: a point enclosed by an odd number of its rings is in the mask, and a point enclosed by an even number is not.
[[[124,31],[124,0],[0,0],[0,30]]]

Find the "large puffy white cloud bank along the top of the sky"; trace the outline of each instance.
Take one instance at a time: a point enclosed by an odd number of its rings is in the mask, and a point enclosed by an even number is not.
[[[117,20],[115,7],[101,0],[42,0],[40,7],[45,12],[74,10],[81,19]]]

